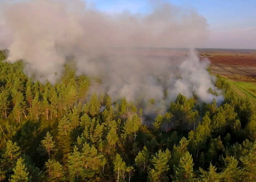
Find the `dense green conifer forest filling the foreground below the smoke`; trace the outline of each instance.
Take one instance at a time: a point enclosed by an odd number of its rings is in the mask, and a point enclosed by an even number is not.
[[[125,97],[91,93],[91,78],[70,65],[52,85],[6,57],[0,51],[0,181],[256,181],[256,108],[221,76],[221,105],[179,94],[152,118]]]

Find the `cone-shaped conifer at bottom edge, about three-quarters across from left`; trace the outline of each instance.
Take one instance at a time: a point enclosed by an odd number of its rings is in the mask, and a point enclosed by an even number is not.
[[[180,163],[174,167],[176,182],[192,182],[194,181],[193,159],[188,151],[180,158]]]

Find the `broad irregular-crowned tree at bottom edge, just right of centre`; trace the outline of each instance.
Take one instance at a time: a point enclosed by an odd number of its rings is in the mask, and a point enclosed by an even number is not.
[[[168,162],[171,158],[171,152],[166,149],[162,151],[161,149],[152,158],[152,164],[154,169],[149,170],[149,179],[155,181],[155,176],[157,175],[159,181],[168,181],[166,172],[169,170]]]

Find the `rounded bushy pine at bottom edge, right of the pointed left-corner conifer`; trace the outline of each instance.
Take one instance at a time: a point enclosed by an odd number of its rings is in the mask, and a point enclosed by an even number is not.
[[[64,177],[62,165],[58,161],[48,159],[48,161],[45,162],[45,168],[50,181],[61,181]]]

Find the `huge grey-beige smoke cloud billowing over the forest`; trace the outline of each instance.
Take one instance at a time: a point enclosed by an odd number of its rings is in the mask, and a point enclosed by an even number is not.
[[[41,82],[55,83],[67,57],[74,56],[77,74],[102,78],[102,85],[92,89],[115,99],[145,103],[154,98],[160,105],[178,93],[195,93],[204,102],[223,99],[208,93],[209,87],[216,89],[206,71],[209,63],[199,61],[193,51],[171,57],[143,49],[204,43],[208,25],[193,10],[161,1],[152,3],[147,14],[107,14],[80,0],[30,0],[1,7],[0,41],[10,50],[8,59],[23,59],[27,75]]]

